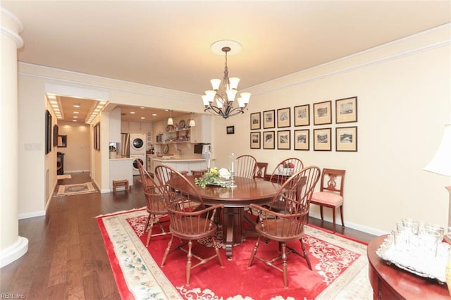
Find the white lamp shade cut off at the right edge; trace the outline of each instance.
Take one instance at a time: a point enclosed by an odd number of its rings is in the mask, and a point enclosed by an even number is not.
[[[451,124],[445,125],[442,142],[440,142],[432,161],[424,167],[424,170],[451,176]]]

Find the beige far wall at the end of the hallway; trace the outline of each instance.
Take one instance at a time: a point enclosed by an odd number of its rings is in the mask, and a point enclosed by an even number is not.
[[[58,122],[59,135],[67,135],[67,146],[58,147],[64,154],[64,173],[89,172],[92,142],[89,125]]]

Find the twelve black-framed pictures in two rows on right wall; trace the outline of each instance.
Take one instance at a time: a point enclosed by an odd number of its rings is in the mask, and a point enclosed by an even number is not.
[[[310,111],[310,108],[311,111]],[[269,130],[251,132],[251,149],[310,150],[310,139],[314,151],[332,151],[333,131],[335,130],[335,151],[357,151],[357,126],[330,127],[333,124],[333,101],[321,101],[314,104],[303,104],[291,108],[278,108],[263,112],[251,113],[250,130],[285,128],[284,130]],[[310,116],[313,118],[313,130],[307,128],[289,128],[310,126]],[[293,120],[293,123],[291,122]],[[335,100],[335,124],[357,122],[357,96]],[[276,126],[277,125],[277,126]],[[329,125],[329,127],[322,127]],[[319,126],[319,127],[317,127]],[[312,137],[310,136],[312,132]],[[276,135],[277,133],[277,135]],[[292,137],[291,137],[292,135]],[[261,146],[263,144],[263,146]]]

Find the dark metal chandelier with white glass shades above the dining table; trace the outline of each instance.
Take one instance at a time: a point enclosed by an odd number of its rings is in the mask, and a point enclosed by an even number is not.
[[[214,51],[216,54],[226,54],[226,66],[224,68],[223,80],[210,80],[212,89],[205,91],[205,94],[202,95],[202,101],[204,101],[205,106],[204,111],[220,115],[225,119],[245,112],[245,108],[247,107],[247,104],[249,104],[251,93],[240,93],[240,96],[235,99],[240,78],[229,78],[227,68],[228,52],[230,52],[230,54],[235,54],[240,50],[241,45],[235,41],[221,40],[211,44],[211,51]]]

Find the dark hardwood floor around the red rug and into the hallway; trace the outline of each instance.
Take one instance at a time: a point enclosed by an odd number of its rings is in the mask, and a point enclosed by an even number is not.
[[[20,220],[19,235],[28,239],[28,251],[0,269],[0,298],[121,299],[95,217],[145,206],[137,178],[130,192],[55,196],[46,216]],[[58,185],[88,181],[88,173],[78,173]],[[331,223],[309,222],[332,230]],[[339,225],[337,230],[364,242],[373,239]]]

